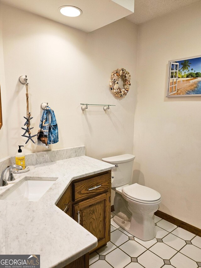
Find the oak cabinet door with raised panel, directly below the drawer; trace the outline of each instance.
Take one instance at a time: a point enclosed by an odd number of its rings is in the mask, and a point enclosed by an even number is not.
[[[98,239],[95,249],[110,241],[109,198],[110,193],[105,193],[73,205],[74,220]]]

